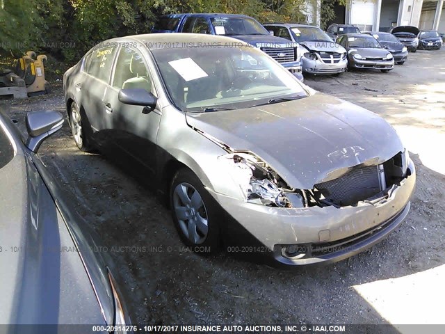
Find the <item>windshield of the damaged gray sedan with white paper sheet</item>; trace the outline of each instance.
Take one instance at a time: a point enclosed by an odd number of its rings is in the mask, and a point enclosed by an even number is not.
[[[247,45],[216,43],[152,53],[172,101],[182,111],[240,109],[307,96],[293,74]]]

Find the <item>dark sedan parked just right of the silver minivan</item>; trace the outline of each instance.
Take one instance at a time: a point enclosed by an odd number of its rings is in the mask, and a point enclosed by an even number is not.
[[[394,68],[394,57],[391,52],[371,35],[365,33],[347,33],[341,35],[337,42],[348,51],[348,68],[363,68],[389,72]]]

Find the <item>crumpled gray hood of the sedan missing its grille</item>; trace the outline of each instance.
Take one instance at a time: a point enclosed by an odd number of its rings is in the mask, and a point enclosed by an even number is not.
[[[378,164],[403,151],[383,118],[321,93],[248,109],[187,113],[186,120],[232,150],[259,155],[298,189],[312,189],[333,178],[334,171]]]

